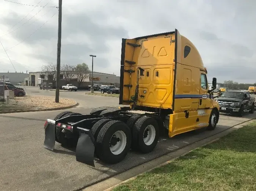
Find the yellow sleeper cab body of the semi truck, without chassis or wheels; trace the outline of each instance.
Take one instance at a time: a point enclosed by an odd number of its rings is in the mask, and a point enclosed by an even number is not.
[[[219,105],[208,89],[198,50],[177,29],[123,39],[119,104],[171,110],[166,116],[170,137],[209,125],[210,113],[219,111]]]

